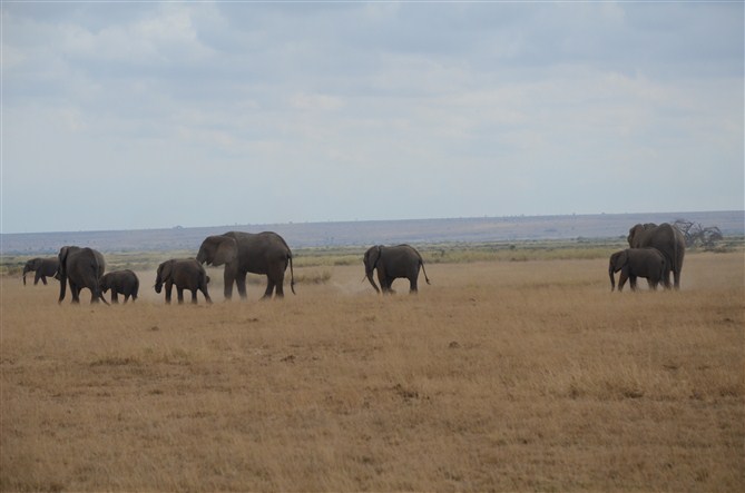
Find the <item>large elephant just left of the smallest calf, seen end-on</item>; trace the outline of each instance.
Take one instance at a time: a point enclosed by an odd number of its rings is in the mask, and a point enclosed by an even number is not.
[[[80,290],[84,287],[90,289],[90,303],[108,302],[104,299],[99,279],[106,269],[106,260],[100,252],[92,248],[80,248],[78,246],[63,246],[59,249],[59,268],[56,277],[59,279],[59,300],[62,303],[70,283],[72,303],[80,303]]]

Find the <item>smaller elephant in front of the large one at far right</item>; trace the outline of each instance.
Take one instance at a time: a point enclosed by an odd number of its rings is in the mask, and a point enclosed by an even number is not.
[[[608,275],[610,276],[610,290],[616,288],[615,273],[621,272],[618,278],[618,292],[624,290],[626,279],[636,290],[636,278],[646,277],[649,288],[655,290],[657,285],[664,280],[667,269],[667,259],[657,248],[627,248],[616,252],[610,256],[608,263]],[[667,269],[669,272],[669,269]]]

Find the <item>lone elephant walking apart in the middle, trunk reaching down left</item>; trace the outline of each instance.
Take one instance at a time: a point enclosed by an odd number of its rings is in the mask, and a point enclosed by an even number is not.
[[[409,279],[409,293],[418,293],[416,280],[419,278],[419,268],[422,268],[427,284],[430,284],[424,270],[424,260],[419,252],[409,245],[370,247],[364,256],[365,277],[370,280],[376,293],[381,290],[373,279],[373,270],[378,269],[378,280],[383,294],[395,293],[391,285],[393,280],[400,277]]]

